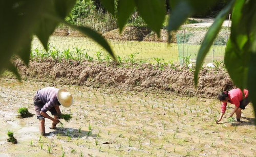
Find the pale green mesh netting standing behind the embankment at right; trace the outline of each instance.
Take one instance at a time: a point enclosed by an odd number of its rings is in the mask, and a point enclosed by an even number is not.
[[[184,60],[187,58],[189,58],[191,62],[196,62],[198,51],[208,29],[209,28],[200,28],[196,30],[184,28],[183,31],[177,32],[176,37],[180,64],[183,64]],[[222,28],[204,59],[205,65],[212,63],[214,60],[224,60],[228,37],[228,28]]]

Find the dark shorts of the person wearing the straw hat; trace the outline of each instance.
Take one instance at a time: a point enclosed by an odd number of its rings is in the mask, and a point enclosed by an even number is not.
[[[40,111],[42,109],[42,107],[44,107],[45,103],[42,103],[41,100],[35,95],[34,96],[34,107],[35,107],[35,113],[36,113],[36,118],[41,120],[41,119],[45,119],[44,116],[42,116],[40,114]],[[57,115],[57,111],[55,110],[55,108],[51,108],[49,110],[51,112],[51,114],[54,116],[54,115]]]

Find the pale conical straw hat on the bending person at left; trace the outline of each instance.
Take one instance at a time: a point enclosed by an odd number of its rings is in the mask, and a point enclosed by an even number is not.
[[[66,89],[59,89],[57,98],[59,103],[65,108],[70,107],[73,103],[73,96]]]

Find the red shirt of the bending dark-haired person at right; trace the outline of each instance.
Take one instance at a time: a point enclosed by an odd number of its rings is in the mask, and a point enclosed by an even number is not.
[[[244,89],[244,96],[243,96],[243,92],[241,91],[241,89],[239,88],[232,89],[228,91],[228,97],[230,98],[229,102],[231,104],[234,104],[236,107],[239,107],[240,101],[242,101],[243,98],[248,97],[248,90]],[[221,113],[226,112],[226,107],[227,107],[227,102],[225,103],[222,102]]]

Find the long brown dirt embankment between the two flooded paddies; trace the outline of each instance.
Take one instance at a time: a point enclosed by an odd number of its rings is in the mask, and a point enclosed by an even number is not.
[[[117,90],[167,92],[182,96],[216,97],[221,91],[233,88],[226,71],[203,69],[199,86],[194,88],[194,72],[183,67],[159,70],[151,64],[123,65],[84,61],[57,62],[51,59],[31,61],[29,68],[20,60],[14,61],[23,79],[55,84],[110,87]],[[129,67],[127,67],[129,66]]]

